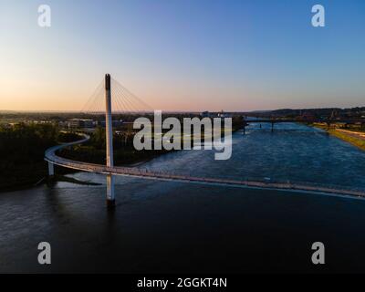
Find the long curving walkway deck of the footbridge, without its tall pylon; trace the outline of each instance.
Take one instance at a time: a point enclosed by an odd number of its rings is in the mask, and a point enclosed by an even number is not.
[[[62,158],[56,155],[56,151],[62,148],[76,145],[85,141],[89,141],[89,136],[82,134],[85,138],[79,141],[70,143],[64,143],[47,149],[45,152],[45,161],[53,163],[62,167],[75,169],[82,172],[97,172],[102,174],[130,176],[142,179],[158,180],[158,181],[175,181],[181,183],[199,183],[209,185],[224,185],[230,187],[241,187],[241,188],[265,188],[273,190],[287,190],[297,192],[310,192],[310,193],[328,193],[338,195],[348,195],[365,198],[365,193],[355,190],[338,189],[326,186],[318,186],[315,184],[300,184],[300,183],[271,183],[271,182],[254,182],[254,181],[239,181],[239,180],[228,180],[219,178],[205,178],[195,177],[182,174],[171,174],[168,172],[151,172],[148,170],[131,168],[131,167],[107,167],[106,165],[93,164],[87,162],[76,162]]]

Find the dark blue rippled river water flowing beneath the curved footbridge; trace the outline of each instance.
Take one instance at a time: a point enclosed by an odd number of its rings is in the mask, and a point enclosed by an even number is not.
[[[192,175],[309,182],[365,189],[365,152],[303,125],[252,124],[229,161],[178,151],[139,167]],[[98,174],[71,176],[105,183]],[[0,193],[0,272],[363,272],[365,200],[118,177]],[[39,266],[36,246],[52,245]],[[313,266],[311,244],[326,245]]]

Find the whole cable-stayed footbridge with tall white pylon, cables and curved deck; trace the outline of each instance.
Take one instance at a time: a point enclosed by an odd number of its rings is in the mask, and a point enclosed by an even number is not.
[[[103,81],[104,82],[104,81]],[[89,136],[84,135],[84,139],[80,141],[74,141],[64,143],[62,145],[54,146],[45,152],[45,160],[48,162],[48,173],[50,176],[54,175],[54,164],[75,169],[83,172],[97,172],[105,174],[107,177],[107,203],[108,206],[113,207],[115,205],[115,192],[114,192],[114,176],[130,176],[141,179],[158,180],[158,181],[174,181],[181,183],[199,183],[208,185],[223,185],[239,188],[266,188],[266,189],[280,189],[290,191],[307,191],[311,193],[333,193],[342,195],[351,195],[358,197],[365,197],[365,192],[357,190],[339,189],[337,187],[319,186],[318,184],[308,183],[273,183],[273,182],[255,182],[247,180],[235,180],[224,178],[209,178],[199,177],[192,175],[174,174],[169,172],[155,172],[149,170],[143,170],[141,168],[120,167],[114,166],[113,161],[113,130],[112,130],[112,109],[116,112],[115,108],[120,108],[119,111],[132,112],[132,111],[146,111],[151,110],[151,107],[147,106],[141,99],[130,93],[128,89],[125,89],[116,80],[110,78],[110,75],[105,76],[105,86],[103,82],[95,90],[94,94],[88,101],[87,108],[95,114],[105,114],[105,127],[106,127],[106,165],[93,164],[88,162],[77,162],[66,158],[57,156],[57,151],[64,147],[69,147],[89,141]],[[103,96],[102,99],[99,97]],[[113,95],[114,99],[111,99]],[[101,101],[100,101],[101,100]],[[103,108],[105,106],[105,111]],[[117,111],[118,112],[118,111]],[[257,120],[255,120],[257,122]],[[253,121],[253,122],[255,122]],[[262,120],[263,122],[266,120]]]

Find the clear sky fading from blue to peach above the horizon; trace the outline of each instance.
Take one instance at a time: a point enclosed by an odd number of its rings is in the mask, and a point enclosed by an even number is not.
[[[161,110],[365,106],[363,0],[0,0],[0,39],[0,110],[80,110],[107,72]]]

